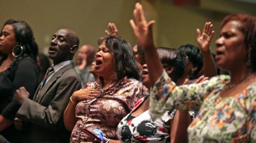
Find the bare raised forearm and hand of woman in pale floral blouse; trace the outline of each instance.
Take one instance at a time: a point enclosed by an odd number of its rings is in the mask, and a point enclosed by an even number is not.
[[[141,4],[137,3],[133,11],[134,20],[130,20],[134,35],[140,45],[145,49],[145,59],[148,67],[148,75],[151,80],[151,86],[160,77],[163,67],[157,54],[153,40],[152,26],[154,20],[147,22]]]

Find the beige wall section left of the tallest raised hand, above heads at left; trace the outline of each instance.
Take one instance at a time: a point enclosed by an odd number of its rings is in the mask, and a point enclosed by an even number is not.
[[[52,35],[59,28],[70,28],[80,38],[81,44],[97,46],[104,36],[108,22],[118,25],[120,35],[134,43],[129,20],[136,1],[13,1],[0,0],[0,23],[9,18],[18,18],[30,24],[36,42],[43,51]]]

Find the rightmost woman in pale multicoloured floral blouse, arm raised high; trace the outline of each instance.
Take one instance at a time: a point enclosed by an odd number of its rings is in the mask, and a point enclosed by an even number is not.
[[[150,96],[152,118],[161,117],[166,109],[199,110],[188,127],[189,142],[255,142],[255,17],[231,14],[222,21],[221,34],[215,42],[216,60],[217,66],[230,71],[230,77],[220,75],[177,87],[159,64],[152,22],[147,23],[140,4],[136,4],[134,15],[134,33],[145,44],[148,72],[154,84]]]

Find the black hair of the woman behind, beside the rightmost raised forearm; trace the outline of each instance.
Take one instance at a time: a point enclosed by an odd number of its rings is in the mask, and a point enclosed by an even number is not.
[[[197,70],[194,72],[191,72],[189,75],[190,79],[196,79],[197,74],[203,67],[203,58],[202,53],[199,49],[199,47],[191,44],[185,44],[181,45],[178,48],[179,52],[183,53],[185,56],[187,56],[188,60],[197,67]]]

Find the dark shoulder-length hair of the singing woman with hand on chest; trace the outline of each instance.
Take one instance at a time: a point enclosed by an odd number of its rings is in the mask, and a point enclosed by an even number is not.
[[[98,44],[105,42],[108,49],[114,52],[115,72],[117,78],[125,76],[140,79],[139,69],[136,65],[133,48],[130,43],[120,36],[108,35],[99,39]]]

